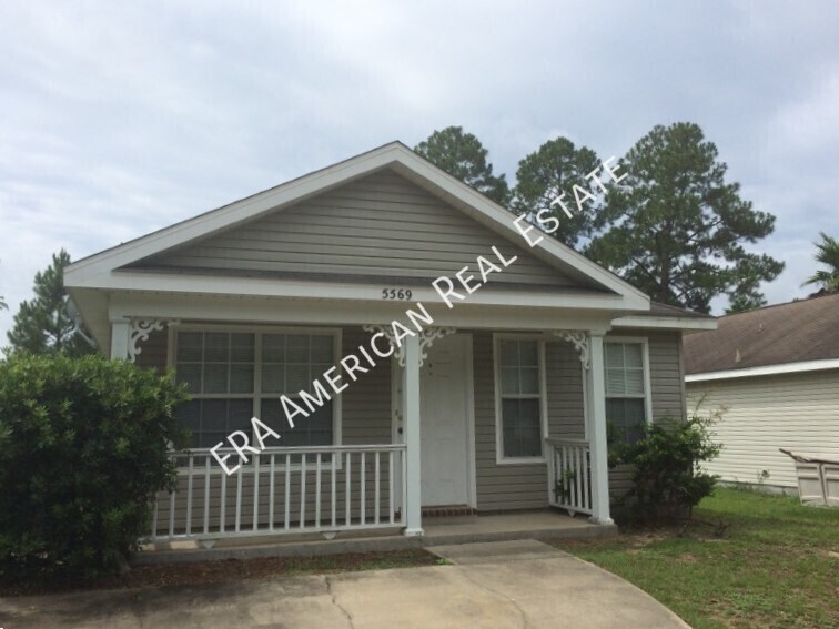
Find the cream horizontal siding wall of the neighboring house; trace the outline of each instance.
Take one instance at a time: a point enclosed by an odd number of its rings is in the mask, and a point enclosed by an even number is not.
[[[778,448],[839,460],[839,369],[688,383],[691,408],[724,408],[722,445],[707,464],[722,480],[797,488],[792,459]],[[761,478],[761,471],[769,476]]]

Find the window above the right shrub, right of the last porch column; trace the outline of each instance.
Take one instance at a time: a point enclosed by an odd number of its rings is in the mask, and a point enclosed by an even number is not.
[[[605,343],[606,422],[615,436],[629,443],[641,437],[647,422],[645,345]]]

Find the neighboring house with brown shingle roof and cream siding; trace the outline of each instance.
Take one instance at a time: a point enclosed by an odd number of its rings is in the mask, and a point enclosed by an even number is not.
[[[839,460],[839,294],[719,318],[685,339],[688,396],[725,409],[708,470],[728,483],[795,493],[779,448]]]

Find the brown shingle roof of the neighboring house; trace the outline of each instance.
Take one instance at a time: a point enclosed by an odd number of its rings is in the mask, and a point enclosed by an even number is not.
[[[823,368],[831,361],[839,366],[839,294],[722,316],[716,331],[691,334],[684,343],[686,374],[799,365],[771,372],[782,373],[802,371],[803,363]],[[764,373],[770,372],[751,375]]]

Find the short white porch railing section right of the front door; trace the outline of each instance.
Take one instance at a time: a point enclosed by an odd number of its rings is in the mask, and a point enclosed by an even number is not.
[[[592,515],[592,466],[585,439],[545,439],[548,453],[548,493],[554,507],[569,515]]]

